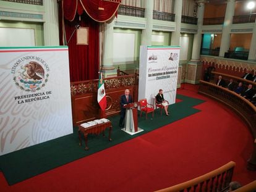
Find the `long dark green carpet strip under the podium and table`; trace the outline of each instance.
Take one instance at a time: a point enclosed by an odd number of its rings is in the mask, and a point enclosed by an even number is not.
[[[89,135],[88,147],[90,149],[85,151],[83,150],[85,147],[84,141],[82,147],[79,146],[77,127],[74,127],[73,134],[1,156],[0,169],[4,173],[9,185],[13,185],[27,178],[195,114],[196,112],[199,112],[199,110],[192,107],[203,102],[200,99],[189,98],[182,95],[177,95],[177,99],[181,99],[182,102],[177,102],[176,104],[169,106],[171,115],[168,117],[164,115],[164,112],[161,116],[159,109],[155,111],[153,119],[151,119],[151,114],[148,114],[148,120],[145,119],[145,114],[143,114],[142,118],[139,117],[139,127],[144,131],[135,135],[129,135],[118,127],[119,115],[116,115],[109,118],[113,124],[111,142],[108,141],[108,130],[105,131],[105,138],[103,138],[102,135]]]

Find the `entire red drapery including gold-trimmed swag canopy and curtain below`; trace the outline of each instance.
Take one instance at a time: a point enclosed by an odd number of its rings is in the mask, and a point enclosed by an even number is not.
[[[62,0],[59,4],[61,44],[69,41],[70,81],[98,78],[100,63],[99,23],[113,19],[120,0]],[[88,45],[77,45],[75,26],[88,27]]]

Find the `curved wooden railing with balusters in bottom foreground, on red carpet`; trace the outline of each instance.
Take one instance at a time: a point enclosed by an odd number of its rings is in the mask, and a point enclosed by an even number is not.
[[[184,183],[159,190],[157,192],[176,191],[221,191],[229,185],[232,180],[235,162],[231,161],[222,167],[205,175],[194,178]]]

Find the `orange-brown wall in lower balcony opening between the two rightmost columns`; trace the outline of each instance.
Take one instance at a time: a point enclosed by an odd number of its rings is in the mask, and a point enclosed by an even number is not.
[[[252,40],[252,33],[239,33],[231,34],[230,50],[233,51],[235,47],[242,47],[244,49],[250,49],[250,40]]]

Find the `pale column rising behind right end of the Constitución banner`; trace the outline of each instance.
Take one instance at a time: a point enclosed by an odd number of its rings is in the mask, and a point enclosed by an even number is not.
[[[179,38],[181,37],[182,0],[175,0],[174,14],[175,14],[176,30],[171,33],[171,45],[179,46]]]

